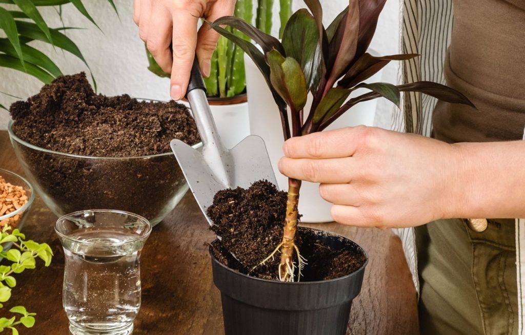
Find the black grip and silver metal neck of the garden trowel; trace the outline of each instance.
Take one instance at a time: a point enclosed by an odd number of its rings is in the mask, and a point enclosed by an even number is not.
[[[206,87],[202,79],[201,69],[198,66],[197,55],[195,55],[193,60],[186,98],[190,102],[198,133],[201,135],[203,149],[213,147],[217,153],[224,152],[225,149],[220,142],[217,126],[215,126],[215,121],[213,121],[212,111],[209,109]]]

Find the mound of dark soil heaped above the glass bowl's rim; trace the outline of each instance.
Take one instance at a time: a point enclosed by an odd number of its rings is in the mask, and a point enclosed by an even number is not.
[[[171,152],[173,138],[200,142],[184,105],[95,94],[83,72],[55,79],[9,112],[19,138],[61,153],[146,156]]]

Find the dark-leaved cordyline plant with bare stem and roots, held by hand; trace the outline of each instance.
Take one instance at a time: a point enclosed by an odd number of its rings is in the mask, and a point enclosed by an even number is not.
[[[422,92],[446,102],[472,106],[465,95],[433,82],[419,81],[403,85],[364,82],[391,60],[407,60],[418,56],[375,57],[366,52],[385,2],[350,0],[349,6],[328,28],[324,28],[319,0],[304,0],[309,10],[299,9],[292,14],[283,31],[282,42],[237,17],[219,18],[211,27],[243,48],[255,62],[278,106],[285,140],[322,131],[352,106],[363,101],[383,96],[399,105],[401,91]],[[222,25],[242,31],[262,51],[220,27]],[[371,92],[348,99],[350,93],[358,88]],[[310,110],[304,113],[308,92],[313,99]],[[290,109],[290,118],[287,108]],[[284,233],[282,242],[276,248],[276,251],[279,248],[281,251],[278,276],[282,281],[294,279],[294,251],[298,254],[299,276],[303,265],[295,245],[301,181],[289,178],[288,187]]]

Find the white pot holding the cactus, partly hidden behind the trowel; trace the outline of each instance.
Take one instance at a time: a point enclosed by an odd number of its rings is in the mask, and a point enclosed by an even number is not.
[[[209,99],[208,102],[220,139],[226,148],[233,148],[250,135],[246,96]],[[186,101],[182,103],[190,107]]]

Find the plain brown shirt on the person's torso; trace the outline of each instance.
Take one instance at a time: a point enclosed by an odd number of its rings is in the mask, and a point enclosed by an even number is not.
[[[447,84],[477,107],[438,102],[433,136],[446,142],[516,140],[525,128],[525,0],[456,0]]]

